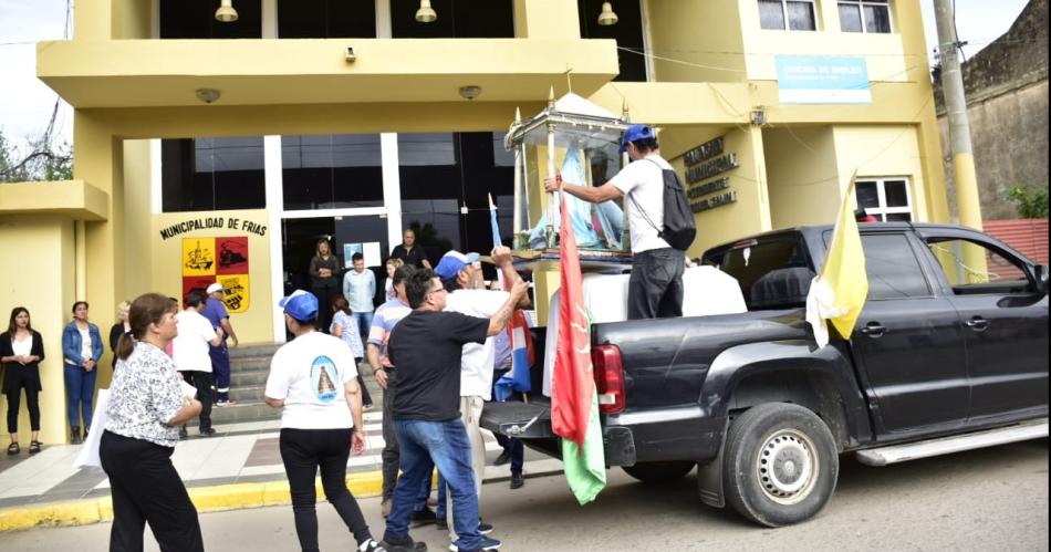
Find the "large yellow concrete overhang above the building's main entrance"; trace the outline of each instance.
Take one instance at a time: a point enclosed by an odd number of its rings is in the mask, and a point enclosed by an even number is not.
[[[353,48],[354,60],[346,50]],[[566,72],[570,77],[566,77]],[[589,96],[618,72],[613,40],[326,39],[49,41],[37,75],[76,108],[545,100]]]

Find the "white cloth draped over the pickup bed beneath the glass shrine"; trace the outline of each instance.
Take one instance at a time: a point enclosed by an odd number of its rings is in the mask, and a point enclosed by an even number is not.
[[[584,274],[584,304],[593,323],[627,320],[627,283],[631,274]],[[683,273],[683,316],[710,316],[747,312],[737,279],[715,267],[693,267]],[[548,310],[548,336],[544,341],[543,394],[551,396],[553,351],[559,344],[559,304],[561,293],[551,296]]]

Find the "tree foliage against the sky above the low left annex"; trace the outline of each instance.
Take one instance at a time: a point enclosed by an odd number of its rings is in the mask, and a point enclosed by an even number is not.
[[[19,147],[0,132],[0,183],[73,178],[73,146],[55,144],[50,133]]]

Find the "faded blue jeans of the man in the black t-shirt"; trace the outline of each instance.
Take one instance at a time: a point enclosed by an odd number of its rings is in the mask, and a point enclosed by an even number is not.
[[[471,445],[464,423],[416,419],[394,420],[402,457],[402,477],[394,489],[394,504],[387,517],[384,540],[397,543],[408,535],[408,523],[425,481],[430,480],[431,462],[438,467],[452,496],[452,523],[460,550],[480,546],[478,532],[478,492],[471,469]]]

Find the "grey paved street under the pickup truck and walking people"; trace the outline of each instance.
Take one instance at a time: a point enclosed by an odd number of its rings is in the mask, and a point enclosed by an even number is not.
[[[510,491],[487,485],[483,514],[497,525],[503,551],[689,550],[1048,550],[1048,440],[1037,440],[868,468],[843,458],[829,508],[801,525],[770,530],[701,506],[695,476],[677,485],[644,486],[610,471],[597,503],[575,504],[561,477],[530,479]],[[378,537],[378,500],[362,501]],[[347,550],[350,537],[320,504],[324,550]],[[289,507],[201,515],[209,550],[296,549]],[[0,533],[0,546],[24,552],[106,550],[106,523]],[[445,550],[433,528],[413,533]],[[157,550],[147,538],[147,550]]]

